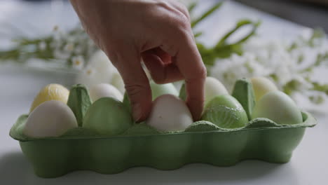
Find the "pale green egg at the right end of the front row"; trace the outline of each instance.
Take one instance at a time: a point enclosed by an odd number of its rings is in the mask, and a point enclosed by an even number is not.
[[[302,114],[295,102],[285,93],[267,93],[254,107],[252,118],[269,118],[280,125],[302,123]]]

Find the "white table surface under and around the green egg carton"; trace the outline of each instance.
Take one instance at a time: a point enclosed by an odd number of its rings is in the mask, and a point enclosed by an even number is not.
[[[205,1],[205,4],[210,4]],[[58,4],[53,5],[59,6]],[[11,20],[14,25],[27,27],[18,22],[34,22],[39,27],[37,34],[48,32],[53,22],[71,26],[77,18],[71,7],[63,4],[53,12],[48,3],[40,5],[22,4],[19,1],[0,1],[0,41],[3,46],[7,36],[1,35],[1,24]],[[58,9],[58,8],[57,8]],[[33,10],[33,11],[31,11]],[[64,11],[63,11],[64,10]],[[29,14],[27,12],[30,12]],[[33,12],[31,14],[31,12]],[[45,15],[45,16],[42,16]],[[55,15],[55,14],[54,14]],[[54,17],[56,19],[54,19]],[[232,21],[238,18],[261,18],[263,25],[259,34],[269,38],[289,37],[302,27],[254,11],[239,4],[228,2],[219,13],[212,16],[202,27],[211,27],[203,40],[207,44],[218,38]],[[216,22],[213,24],[212,22]],[[224,26],[222,26],[224,25]],[[42,29],[43,27],[43,29]],[[47,31],[48,30],[48,31]],[[212,34],[211,34],[212,33]],[[216,34],[213,34],[216,33]],[[32,32],[29,32],[32,34]],[[214,35],[214,36],[213,36]],[[2,36],[2,37],[1,37]],[[5,38],[4,38],[5,37]],[[265,163],[259,160],[245,160],[233,167],[215,167],[205,164],[191,164],[179,170],[162,171],[149,167],[134,167],[119,174],[97,174],[90,171],[71,172],[55,179],[36,177],[32,165],[23,156],[17,141],[8,132],[20,114],[27,113],[36,93],[48,83],[74,83],[74,76],[30,71],[18,67],[0,65],[0,184],[328,184],[328,116],[317,115],[318,125],[308,128],[301,144],[294,151],[292,160],[286,164]]]

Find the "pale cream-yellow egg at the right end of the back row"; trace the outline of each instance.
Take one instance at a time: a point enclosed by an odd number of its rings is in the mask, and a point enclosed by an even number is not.
[[[268,78],[255,77],[252,78],[251,81],[252,81],[256,101],[259,101],[262,96],[266,95],[266,93],[278,90],[275,84],[272,81],[270,81]]]

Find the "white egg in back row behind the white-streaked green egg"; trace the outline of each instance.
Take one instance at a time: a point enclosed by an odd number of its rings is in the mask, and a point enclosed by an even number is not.
[[[205,104],[210,102],[214,97],[219,95],[228,95],[228,90],[224,87],[224,85],[217,80],[217,78],[213,78],[207,76],[205,79]]]

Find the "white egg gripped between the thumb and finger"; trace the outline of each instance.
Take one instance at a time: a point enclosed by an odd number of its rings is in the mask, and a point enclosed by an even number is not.
[[[146,124],[159,131],[182,131],[193,123],[186,103],[174,95],[161,95],[153,102]]]

